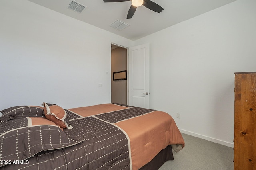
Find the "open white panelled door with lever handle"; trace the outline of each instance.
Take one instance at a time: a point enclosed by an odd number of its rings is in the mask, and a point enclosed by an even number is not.
[[[149,109],[149,43],[129,48],[128,105]]]

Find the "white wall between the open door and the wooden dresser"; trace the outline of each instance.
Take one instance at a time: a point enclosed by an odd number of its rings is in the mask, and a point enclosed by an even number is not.
[[[135,41],[150,42],[150,107],[184,133],[232,147],[234,72],[256,71],[255,7],[238,0]]]

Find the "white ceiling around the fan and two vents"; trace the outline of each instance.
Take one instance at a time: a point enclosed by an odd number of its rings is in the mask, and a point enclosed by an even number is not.
[[[136,40],[236,0],[152,0],[164,8],[160,14],[140,6],[131,19],[126,19],[131,1],[104,3],[103,0],[76,0],[87,7],[81,14],[68,8],[71,0],[29,1],[122,37]],[[130,26],[121,31],[110,27],[109,25],[116,20],[121,20]]]

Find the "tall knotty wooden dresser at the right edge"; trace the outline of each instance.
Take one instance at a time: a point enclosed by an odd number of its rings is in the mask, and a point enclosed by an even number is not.
[[[235,73],[234,170],[256,170],[256,72]]]

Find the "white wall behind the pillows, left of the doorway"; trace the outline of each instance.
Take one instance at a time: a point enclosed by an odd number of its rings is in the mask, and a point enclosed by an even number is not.
[[[111,42],[132,41],[27,0],[2,0],[0,23],[0,110],[111,102]]]

